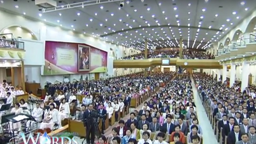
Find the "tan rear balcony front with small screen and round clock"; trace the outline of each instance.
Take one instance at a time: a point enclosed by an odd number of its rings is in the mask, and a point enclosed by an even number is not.
[[[181,66],[194,69],[222,69],[214,59],[149,58],[136,60],[114,60],[114,68],[148,68],[151,66]]]

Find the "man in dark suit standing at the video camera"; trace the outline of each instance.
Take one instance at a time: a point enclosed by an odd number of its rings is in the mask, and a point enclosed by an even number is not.
[[[95,127],[91,118],[91,112],[93,110],[93,104],[88,105],[88,110],[83,113],[83,121],[86,121],[86,143],[94,143],[95,140]],[[90,139],[91,134],[91,139]]]

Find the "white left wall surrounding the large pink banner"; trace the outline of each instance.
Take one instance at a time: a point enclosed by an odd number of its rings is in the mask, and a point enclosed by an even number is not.
[[[36,47],[44,48],[43,42],[45,40],[52,40],[52,41],[63,41],[63,42],[77,42],[77,43],[86,43],[88,45],[91,45],[95,48],[99,48],[100,50],[104,50],[108,52],[108,58],[114,57],[113,53],[115,54],[116,58],[121,58],[124,56],[128,56],[131,54],[137,53],[137,51],[133,50],[131,48],[125,48],[124,46],[120,45],[114,45],[111,43],[107,43],[105,41],[101,41],[99,39],[95,39],[94,37],[89,37],[85,34],[78,34],[74,31],[66,31],[61,29],[61,27],[55,27],[47,25],[43,22],[30,20],[27,18],[24,18],[19,15],[13,15],[7,12],[0,11],[0,19],[4,20],[3,23],[0,23],[0,33],[3,34],[4,32],[12,32],[14,33],[15,37],[23,37],[23,41],[25,42],[25,48],[26,45],[28,45],[28,48],[26,48],[26,58],[25,60],[25,75],[27,76],[26,80],[28,81],[35,81],[42,84],[45,82],[55,82],[55,81],[63,81],[63,75],[56,75],[56,76],[40,76],[40,65],[42,64],[42,59],[44,57],[40,57],[37,62],[37,55],[35,55],[36,48],[30,47],[29,45],[36,44]],[[21,31],[19,28],[27,29],[28,31]],[[8,29],[8,30],[6,30]],[[16,31],[17,30],[17,31]],[[31,41],[28,39],[38,39],[39,41]],[[34,43],[32,43],[34,42]],[[110,48],[112,50],[110,50]],[[40,53],[42,52],[42,56],[44,56],[44,49],[40,49]],[[140,51],[138,51],[140,52]],[[36,53],[37,54],[37,53]],[[115,58],[112,58],[115,59]],[[108,59],[108,61],[112,61],[112,59]],[[114,75],[113,69],[113,63],[108,62],[108,75]],[[25,77],[26,77],[25,76]],[[72,79],[80,79],[81,74],[78,75],[70,75],[70,80]],[[93,78],[94,74],[83,74],[83,78],[88,76],[89,78]],[[105,74],[101,73],[100,77],[105,77]]]

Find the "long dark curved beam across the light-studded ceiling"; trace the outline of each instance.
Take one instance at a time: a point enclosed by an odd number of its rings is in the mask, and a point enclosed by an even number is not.
[[[107,37],[107,36],[111,36],[111,35],[126,32],[126,31],[134,31],[134,30],[139,30],[139,29],[163,28],[163,27],[203,29],[203,30],[208,30],[208,31],[222,32],[222,30],[219,30],[219,29],[209,29],[209,28],[197,27],[197,26],[177,26],[177,25],[160,25],[160,26],[158,26],[158,25],[154,25],[154,26],[141,26],[141,27],[135,27],[135,28],[132,28],[132,29],[119,30],[119,31],[115,31],[115,32],[112,32],[112,33],[100,35],[100,37]]]

